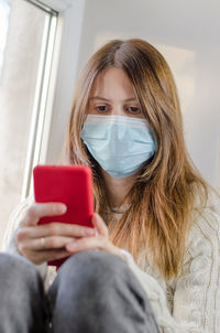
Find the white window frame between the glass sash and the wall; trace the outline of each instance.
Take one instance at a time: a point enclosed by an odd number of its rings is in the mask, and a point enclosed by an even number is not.
[[[29,1],[29,0],[28,0]],[[72,108],[74,85],[78,67],[78,54],[84,20],[85,0],[30,0],[57,12],[54,53],[47,87],[46,112],[36,149],[31,138],[24,171],[21,200],[33,192],[32,169],[35,164],[57,164]],[[30,151],[34,150],[34,155]]]

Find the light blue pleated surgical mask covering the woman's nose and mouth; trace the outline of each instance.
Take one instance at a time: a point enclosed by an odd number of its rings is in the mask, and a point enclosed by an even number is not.
[[[88,115],[81,139],[94,159],[113,178],[135,173],[156,151],[153,131],[140,118]]]

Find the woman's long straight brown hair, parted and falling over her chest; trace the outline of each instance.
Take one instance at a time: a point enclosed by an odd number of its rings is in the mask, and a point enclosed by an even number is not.
[[[88,164],[94,172],[95,208],[105,217],[109,202],[98,163],[87,151],[80,132],[97,75],[122,68],[133,84],[142,111],[154,131],[157,150],[142,168],[128,193],[130,206],[120,221],[109,218],[111,240],[127,244],[135,260],[145,249],[166,279],[183,267],[195,198],[205,205],[207,184],[191,163],[184,142],[183,121],[172,72],[160,52],[145,41],[114,40],[86,65],[75,94],[66,152],[72,164]]]

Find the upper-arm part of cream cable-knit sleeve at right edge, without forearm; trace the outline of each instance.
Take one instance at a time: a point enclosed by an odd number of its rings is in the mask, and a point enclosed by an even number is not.
[[[190,333],[220,327],[220,217],[212,210],[198,218],[190,235],[184,273],[176,283],[173,314]]]

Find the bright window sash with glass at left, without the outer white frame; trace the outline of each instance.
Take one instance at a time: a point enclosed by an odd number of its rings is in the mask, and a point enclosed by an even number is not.
[[[57,12],[37,1],[1,0],[0,6],[2,236],[11,211],[30,192],[32,168],[40,159]]]

